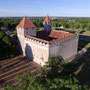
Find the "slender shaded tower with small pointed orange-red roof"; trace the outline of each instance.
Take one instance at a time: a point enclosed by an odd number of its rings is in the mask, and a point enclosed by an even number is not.
[[[46,31],[48,37],[50,32],[52,31],[52,21],[49,16],[45,18],[43,25],[44,25],[44,30]]]

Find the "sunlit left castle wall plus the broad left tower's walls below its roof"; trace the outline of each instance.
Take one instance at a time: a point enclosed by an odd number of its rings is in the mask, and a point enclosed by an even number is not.
[[[49,57],[49,45],[34,39],[26,38],[24,35],[36,35],[34,29],[17,28],[18,41],[22,54],[40,65],[45,65]]]

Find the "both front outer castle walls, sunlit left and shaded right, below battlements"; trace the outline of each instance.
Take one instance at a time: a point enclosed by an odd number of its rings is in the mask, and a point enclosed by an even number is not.
[[[27,38],[24,36],[23,31],[23,29],[17,30],[23,55],[41,66],[45,65],[48,57],[62,56],[66,60],[77,53],[78,35],[49,44],[40,40]]]

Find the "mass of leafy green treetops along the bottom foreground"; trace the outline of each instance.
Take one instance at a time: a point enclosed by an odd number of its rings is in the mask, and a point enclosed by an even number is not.
[[[24,76],[16,77],[20,86],[7,85],[4,90],[88,90],[87,86],[82,85],[74,74],[64,74],[66,66],[61,57],[49,58],[40,76],[35,77],[27,72]]]

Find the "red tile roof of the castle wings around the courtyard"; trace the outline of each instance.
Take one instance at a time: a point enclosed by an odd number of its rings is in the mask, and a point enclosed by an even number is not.
[[[75,34],[72,34],[72,33],[51,31],[49,37],[53,37],[55,39],[47,41],[44,31],[37,31],[37,33],[38,33],[39,37],[38,36],[37,37],[27,36],[27,37],[30,38],[30,39],[37,40],[37,41],[41,41],[43,43],[52,44],[52,43],[55,43],[55,42],[58,42],[58,41],[61,41],[61,40],[64,40],[64,39],[68,39],[68,38],[71,38],[71,37],[75,36]]]

